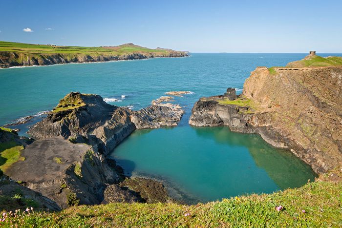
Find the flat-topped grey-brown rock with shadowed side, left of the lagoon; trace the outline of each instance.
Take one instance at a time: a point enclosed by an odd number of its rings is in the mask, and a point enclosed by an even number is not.
[[[62,208],[76,202],[99,204],[103,200],[104,184],[117,183],[118,175],[95,149],[72,144],[62,137],[37,140],[22,151],[25,160],[10,166],[6,174]],[[74,202],[72,195],[75,195]]]

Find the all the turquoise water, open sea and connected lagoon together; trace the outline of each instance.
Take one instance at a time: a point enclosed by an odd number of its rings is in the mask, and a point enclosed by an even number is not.
[[[257,135],[227,127],[192,127],[188,120],[200,97],[223,94],[227,87],[241,92],[256,66],[282,66],[305,55],[194,53],[186,58],[0,69],[0,125],[51,110],[71,91],[96,93],[109,104],[134,110],[167,91],[192,91],[175,97],[185,109],[178,126],[137,130],[114,149],[111,156],[127,175],[161,180],[172,196],[188,203],[299,187],[313,180],[314,173],[290,152]],[[341,56],[321,54],[329,55]],[[21,126],[20,134],[32,123]]]

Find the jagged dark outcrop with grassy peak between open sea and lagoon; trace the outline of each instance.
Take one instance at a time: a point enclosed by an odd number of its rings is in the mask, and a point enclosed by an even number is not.
[[[62,136],[91,143],[107,154],[136,128],[177,125],[184,111],[177,104],[158,104],[132,111],[107,104],[94,94],[70,93],[28,134],[36,139]]]

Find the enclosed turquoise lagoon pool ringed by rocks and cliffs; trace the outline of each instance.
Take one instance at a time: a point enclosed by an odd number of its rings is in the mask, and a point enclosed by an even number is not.
[[[112,154],[127,175],[152,174],[188,203],[244,193],[269,193],[314,180],[290,152],[228,127],[137,130]]]

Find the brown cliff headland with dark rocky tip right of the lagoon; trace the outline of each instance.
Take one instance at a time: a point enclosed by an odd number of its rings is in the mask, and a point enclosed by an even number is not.
[[[342,164],[341,105],[341,65],[257,67],[240,96],[229,88],[225,95],[197,101],[189,123],[257,133],[321,174]]]

